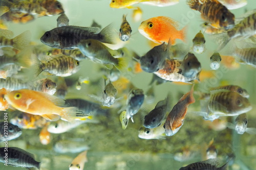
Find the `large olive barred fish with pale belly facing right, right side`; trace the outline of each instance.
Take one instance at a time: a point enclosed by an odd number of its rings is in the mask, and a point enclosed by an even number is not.
[[[237,92],[213,90],[210,92],[208,109],[214,115],[237,116],[252,109],[250,102]]]

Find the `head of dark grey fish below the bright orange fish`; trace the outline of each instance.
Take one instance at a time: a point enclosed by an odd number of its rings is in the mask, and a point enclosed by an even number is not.
[[[156,72],[159,70],[156,56],[147,55],[140,58],[140,67],[145,72]]]

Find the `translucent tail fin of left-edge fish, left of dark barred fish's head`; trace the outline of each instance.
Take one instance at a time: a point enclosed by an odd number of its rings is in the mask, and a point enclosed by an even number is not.
[[[13,42],[14,42],[13,47],[17,48],[18,50],[23,50],[29,45],[30,38],[31,38],[30,31],[25,31],[24,33],[13,38]]]

